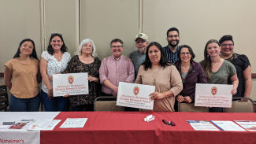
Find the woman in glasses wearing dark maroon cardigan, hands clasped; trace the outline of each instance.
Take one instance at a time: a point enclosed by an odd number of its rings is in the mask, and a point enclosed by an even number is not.
[[[195,54],[190,46],[180,46],[177,55],[179,61],[176,61],[175,66],[180,72],[183,90],[180,92],[180,95],[176,96],[176,100],[178,102],[191,103],[195,100],[195,84],[207,83],[206,74],[202,66],[193,61]]]

